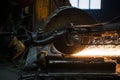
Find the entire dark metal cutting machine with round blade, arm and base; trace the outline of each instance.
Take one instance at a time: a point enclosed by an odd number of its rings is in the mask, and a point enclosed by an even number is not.
[[[29,46],[19,60],[19,80],[119,80],[120,54],[76,54],[89,45],[118,47],[120,22],[115,21],[97,23],[78,8],[59,8],[41,32],[26,30]],[[23,36],[17,38],[24,41]]]

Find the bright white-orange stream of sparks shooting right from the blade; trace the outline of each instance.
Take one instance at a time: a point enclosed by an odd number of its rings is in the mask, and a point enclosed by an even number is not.
[[[120,56],[120,45],[90,45],[74,56]]]

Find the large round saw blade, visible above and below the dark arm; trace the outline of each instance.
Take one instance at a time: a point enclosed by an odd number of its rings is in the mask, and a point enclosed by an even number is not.
[[[61,7],[54,11],[45,22],[45,33],[68,27],[72,24],[94,24],[96,21],[85,11],[75,7]],[[88,44],[89,37],[76,32],[67,33],[53,42],[55,48],[65,54],[81,51]]]

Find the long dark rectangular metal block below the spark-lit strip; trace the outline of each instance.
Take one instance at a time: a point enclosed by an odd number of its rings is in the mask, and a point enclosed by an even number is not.
[[[61,73],[115,73],[116,64],[109,62],[85,63],[81,61],[50,60],[48,72]]]

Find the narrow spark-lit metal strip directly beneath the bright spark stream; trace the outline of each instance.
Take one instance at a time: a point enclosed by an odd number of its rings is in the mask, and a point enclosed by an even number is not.
[[[111,62],[111,63],[120,63],[120,56],[77,56],[77,55],[69,55],[69,54],[48,54],[46,56],[47,60],[69,60],[69,61],[79,61],[85,63],[94,63],[94,62]]]

